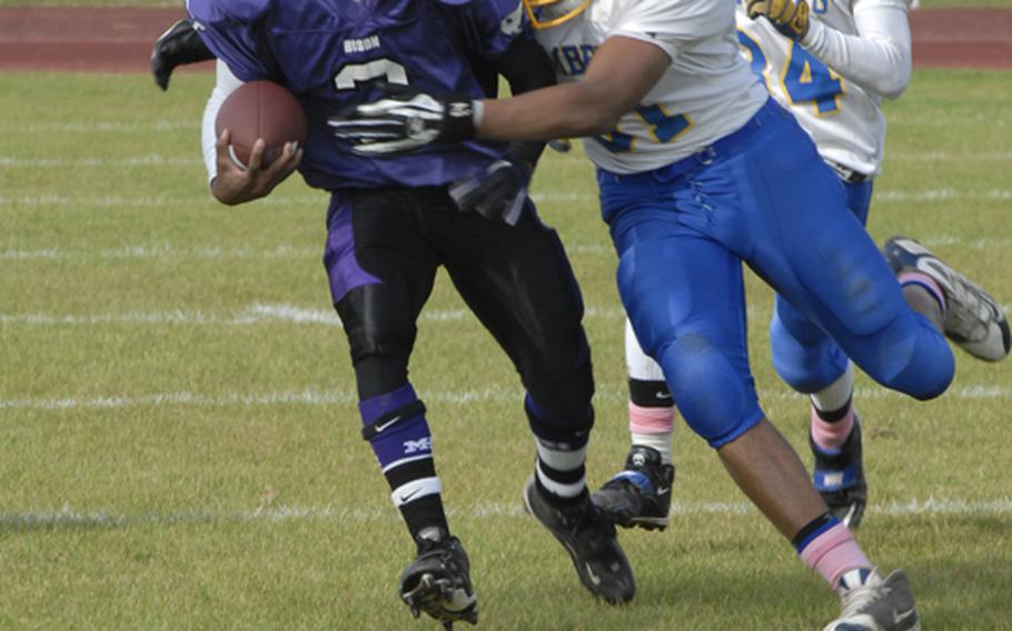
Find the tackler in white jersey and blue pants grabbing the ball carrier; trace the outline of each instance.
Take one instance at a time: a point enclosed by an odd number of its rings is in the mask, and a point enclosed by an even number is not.
[[[559,86],[470,100],[408,84],[333,117],[335,133],[369,154],[425,152],[476,136],[585,137],[619,256],[623,304],[686,422],[802,560],[839,590],[843,611],[827,629],[919,629],[905,574],[875,572],[758,405],[742,263],[872,378],[919,399],[941,394],[952,380],[942,330],[969,332],[953,330],[963,323],[1002,340],[994,316],[979,314],[972,288],[950,289],[916,261],[905,261],[913,266],[904,264],[896,282],[847,208],[840,178],[751,73],[733,3],[527,3]],[[525,490],[535,517],[549,530],[564,528],[536,510],[535,492]]]

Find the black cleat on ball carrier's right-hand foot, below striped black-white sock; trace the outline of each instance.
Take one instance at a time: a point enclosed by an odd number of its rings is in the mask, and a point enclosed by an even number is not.
[[[524,488],[524,505],[569,552],[579,581],[591,593],[609,604],[633,599],[636,580],[615,527],[588,495],[573,507],[557,509],[542,497],[532,475]]]

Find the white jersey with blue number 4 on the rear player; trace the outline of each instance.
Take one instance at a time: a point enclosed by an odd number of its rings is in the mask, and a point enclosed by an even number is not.
[[[857,37],[855,0],[811,0],[810,16],[846,36]],[[903,0],[895,0],[901,7]],[[830,162],[866,176],[882,168],[885,118],[882,98],[847,81],[802,46],[780,34],[767,20],[750,20],[737,4],[742,53],[770,93],[788,108]]]

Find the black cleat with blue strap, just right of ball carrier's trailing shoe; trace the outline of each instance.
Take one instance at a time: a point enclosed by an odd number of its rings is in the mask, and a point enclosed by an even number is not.
[[[663,464],[661,452],[634,444],[625,459],[625,469],[591,495],[605,518],[624,528],[646,530],[667,528],[672,503],[675,467]]]

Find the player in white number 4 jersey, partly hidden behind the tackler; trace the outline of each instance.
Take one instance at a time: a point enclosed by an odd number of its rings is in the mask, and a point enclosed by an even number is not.
[[[862,223],[867,222],[873,178],[882,168],[885,119],[880,103],[899,97],[910,80],[906,11],[904,0],[818,0],[811,11],[805,0],[738,3],[738,42],[752,70],[815,140]],[[986,329],[979,319],[961,319],[959,310],[952,309],[945,322],[951,339],[989,361],[1008,354],[1008,323],[989,296],[970,288],[959,272],[910,240],[894,239],[885,252],[896,269],[923,254],[923,261],[932,261],[922,269],[924,273],[950,292],[965,288],[965,301],[980,301],[998,324]],[[832,338],[780,296],[770,338],[780,375],[811,399],[808,443],[815,488],[845,524],[856,528],[867,501],[867,483],[861,421],[852,401],[852,367]],[[661,367],[639,348],[631,325],[625,340],[633,447],[625,470],[594,499],[624,525],[664,529],[674,478],[674,402]]]

